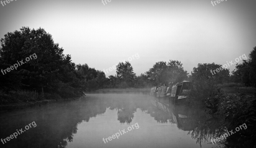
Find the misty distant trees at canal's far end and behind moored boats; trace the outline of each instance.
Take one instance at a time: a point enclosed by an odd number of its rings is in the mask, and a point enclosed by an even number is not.
[[[181,82],[188,79],[188,73],[183,69],[180,61],[157,62],[153,68],[140,76],[136,76],[133,72],[131,63],[119,62],[116,66],[116,76],[107,78],[107,88],[145,88],[153,85],[168,84],[168,82]]]

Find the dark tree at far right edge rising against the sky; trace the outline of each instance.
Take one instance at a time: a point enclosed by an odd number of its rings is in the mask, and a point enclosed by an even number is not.
[[[236,69],[232,71],[231,80],[236,83],[243,83],[246,86],[256,86],[256,46],[249,54],[248,60],[236,64]]]

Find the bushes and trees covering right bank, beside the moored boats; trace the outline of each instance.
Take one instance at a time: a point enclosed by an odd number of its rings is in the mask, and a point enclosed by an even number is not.
[[[216,81],[216,77],[209,75],[207,64],[204,65],[206,74],[200,75],[202,72],[197,72],[194,68],[196,73],[192,72],[190,77],[194,78],[195,83],[190,92],[188,105],[203,105],[213,117],[223,119],[217,128],[221,131],[214,137],[220,137],[226,130],[234,131],[243,123],[247,125],[248,129],[241,130],[228,137],[226,141],[222,141],[224,147],[256,147],[256,77],[253,76],[256,68],[255,51],[256,47],[249,54],[249,60],[236,64],[236,69],[232,71],[233,75],[228,77],[231,83]],[[198,64],[198,67],[201,66],[202,64]]]

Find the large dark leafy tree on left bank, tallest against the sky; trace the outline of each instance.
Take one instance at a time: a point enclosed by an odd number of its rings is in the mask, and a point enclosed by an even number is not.
[[[4,35],[1,39],[1,68],[6,69],[18,61],[33,55],[32,59],[1,77],[15,73],[21,82],[20,89],[37,92],[58,93],[62,97],[74,97],[82,94],[82,82],[76,77],[75,63],[71,56],[65,56],[52,35],[43,28],[22,27]],[[1,86],[1,89],[4,86]],[[67,91],[68,90],[68,91]]]

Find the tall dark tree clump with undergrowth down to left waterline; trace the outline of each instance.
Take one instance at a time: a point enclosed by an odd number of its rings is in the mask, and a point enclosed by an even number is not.
[[[33,53],[37,58],[0,75],[0,97],[5,101],[26,101],[48,98],[75,98],[85,91],[83,75],[76,70],[70,55],[64,55],[59,44],[44,29],[22,27],[1,39],[0,69]]]

